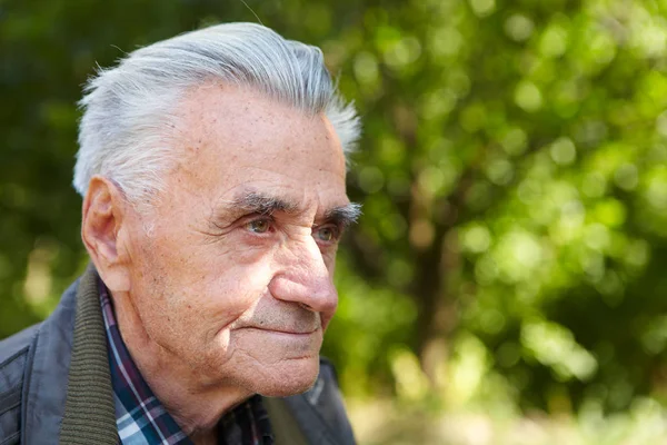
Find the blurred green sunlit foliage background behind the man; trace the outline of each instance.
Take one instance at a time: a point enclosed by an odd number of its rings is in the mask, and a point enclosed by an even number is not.
[[[667,1],[247,3],[0,1],[0,338],[88,261],[96,66],[256,13],[364,119],[325,347],[359,442],[667,443]]]

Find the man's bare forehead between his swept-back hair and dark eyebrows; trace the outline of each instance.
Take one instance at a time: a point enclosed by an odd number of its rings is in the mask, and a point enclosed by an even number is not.
[[[173,186],[213,199],[231,198],[246,185],[331,205],[345,198],[345,156],[323,113],[305,113],[251,89],[209,85],[185,98],[178,122]]]

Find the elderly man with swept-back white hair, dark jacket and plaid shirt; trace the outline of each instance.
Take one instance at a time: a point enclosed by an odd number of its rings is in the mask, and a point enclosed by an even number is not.
[[[81,106],[92,266],[0,343],[0,443],[354,443],[319,349],[359,128],[321,52],[216,26],[100,71]]]

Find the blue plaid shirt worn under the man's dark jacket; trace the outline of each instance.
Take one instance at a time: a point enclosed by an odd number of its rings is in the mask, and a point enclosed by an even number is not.
[[[141,377],[137,365],[130,357],[113,314],[113,304],[107,286],[100,280],[100,303],[107,344],[109,347],[109,367],[116,402],[116,424],[123,445],[190,445],[192,441],[182,432],[173,417],[167,413],[160,400],[150,390]],[[261,397],[256,395],[218,423],[218,444],[220,445],[272,445],[273,435],[269,416],[262,406]]]

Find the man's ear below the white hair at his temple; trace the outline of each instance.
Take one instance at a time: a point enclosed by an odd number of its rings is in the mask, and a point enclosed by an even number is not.
[[[123,192],[111,180],[93,176],[83,199],[81,239],[100,277],[111,291],[130,289],[129,255],[123,222],[131,211]]]

